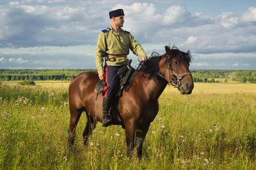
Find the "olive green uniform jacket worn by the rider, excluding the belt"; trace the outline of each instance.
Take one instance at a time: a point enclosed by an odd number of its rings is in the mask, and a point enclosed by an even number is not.
[[[120,29],[119,33],[117,33],[112,28],[102,30],[98,36],[96,48],[96,66],[98,73],[104,71],[103,63],[105,56],[128,55],[129,49],[131,49],[136,56],[146,56],[142,46],[136,40],[134,40],[134,37],[130,34],[130,32]],[[126,57],[119,57],[108,59],[105,64],[107,66],[121,66],[128,65],[128,63],[129,59]]]

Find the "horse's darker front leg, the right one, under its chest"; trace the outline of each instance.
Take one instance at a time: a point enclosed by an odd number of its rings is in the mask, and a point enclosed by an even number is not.
[[[143,127],[139,127],[137,129],[136,138],[135,138],[135,148],[137,149],[138,157],[142,156],[143,142],[149,127],[150,127],[150,123],[147,125],[144,125]]]

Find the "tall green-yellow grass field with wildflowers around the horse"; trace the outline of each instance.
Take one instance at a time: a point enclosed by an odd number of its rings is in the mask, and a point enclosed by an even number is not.
[[[121,126],[98,123],[84,146],[85,114],[69,150],[69,82],[35,83],[2,83],[0,169],[256,169],[256,84],[167,86],[138,159]]]

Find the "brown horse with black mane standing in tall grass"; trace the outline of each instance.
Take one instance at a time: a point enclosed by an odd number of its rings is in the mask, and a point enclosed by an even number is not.
[[[151,56],[141,62],[135,71],[134,81],[129,91],[123,91],[118,98],[118,111],[125,125],[127,153],[134,147],[138,156],[142,155],[142,145],[150,123],[158,114],[158,98],[170,83],[181,92],[191,94],[194,84],[188,69],[191,55],[181,52],[176,47],[166,46],[163,56]],[[96,128],[97,121],[102,122],[102,95],[96,100],[94,88],[100,80],[98,73],[81,73],[69,85],[69,110],[71,113],[68,130],[69,144],[72,146],[76,135],[76,125],[83,111],[86,112],[87,124],[82,134],[84,144]]]

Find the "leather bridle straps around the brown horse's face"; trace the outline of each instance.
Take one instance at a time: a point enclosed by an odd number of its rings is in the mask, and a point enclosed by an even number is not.
[[[183,74],[181,74],[181,75],[180,75],[180,74],[177,74],[177,73],[175,73],[174,69],[172,68],[172,65],[171,65],[171,70],[168,69],[168,64],[166,65],[166,71],[165,71],[165,72],[167,72],[167,70],[168,70],[168,75],[167,75],[167,77],[164,76],[164,75],[166,75],[166,73],[163,75],[163,74],[161,74],[161,73],[158,72],[157,74],[158,74],[160,77],[166,79],[166,81],[167,81],[169,84],[171,84],[172,86],[174,86],[174,87],[176,87],[176,88],[179,88],[179,87],[181,86],[180,80],[183,79],[184,76],[191,74],[190,71],[186,71],[185,73],[183,73]],[[174,78],[174,80],[171,80],[171,79],[169,78],[169,77],[170,77],[170,73],[172,74],[172,77]],[[192,74],[191,74],[191,75],[192,75]],[[176,78],[176,76],[177,76],[177,78]]]

